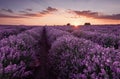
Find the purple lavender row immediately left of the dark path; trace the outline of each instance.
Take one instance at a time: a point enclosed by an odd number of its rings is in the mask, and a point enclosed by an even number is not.
[[[36,46],[41,40],[43,27],[26,30],[0,40],[0,79],[16,79],[32,74],[35,67]]]

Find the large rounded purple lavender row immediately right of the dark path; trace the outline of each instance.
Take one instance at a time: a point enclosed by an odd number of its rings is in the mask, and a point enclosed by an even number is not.
[[[58,79],[119,79],[120,52],[73,36],[59,37],[50,49],[50,66]]]

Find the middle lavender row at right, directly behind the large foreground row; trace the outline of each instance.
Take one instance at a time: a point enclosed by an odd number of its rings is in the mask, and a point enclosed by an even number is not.
[[[115,35],[82,30],[76,30],[72,32],[72,34],[79,38],[91,40],[95,43],[98,43],[99,45],[102,45],[103,47],[113,47],[115,49],[120,48],[120,37],[117,37]]]

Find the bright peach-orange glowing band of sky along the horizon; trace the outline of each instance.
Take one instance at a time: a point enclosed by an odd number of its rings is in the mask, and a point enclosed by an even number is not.
[[[86,22],[91,24],[120,24],[120,20],[105,20],[94,19],[88,17],[71,18],[72,15],[63,14],[51,14],[44,17],[30,17],[30,18],[0,18],[0,24],[7,25],[66,25],[71,23],[77,27],[78,25],[84,25]]]

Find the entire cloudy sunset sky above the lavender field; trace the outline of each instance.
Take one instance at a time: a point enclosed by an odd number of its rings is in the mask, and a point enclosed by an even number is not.
[[[120,24],[120,0],[0,0],[0,24]]]

